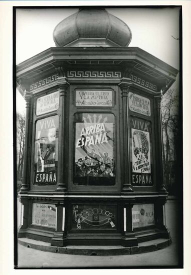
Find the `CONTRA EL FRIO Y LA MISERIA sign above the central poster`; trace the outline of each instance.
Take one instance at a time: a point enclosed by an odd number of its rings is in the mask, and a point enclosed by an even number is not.
[[[112,90],[76,90],[76,106],[112,106]]]

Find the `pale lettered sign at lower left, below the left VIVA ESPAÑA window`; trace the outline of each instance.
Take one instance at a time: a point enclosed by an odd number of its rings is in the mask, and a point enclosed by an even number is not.
[[[56,228],[55,204],[33,203],[32,224]]]

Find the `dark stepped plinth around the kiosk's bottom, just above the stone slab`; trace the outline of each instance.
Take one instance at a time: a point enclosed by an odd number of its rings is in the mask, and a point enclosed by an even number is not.
[[[68,233],[50,232],[46,230],[37,230],[34,228],[20,229],[19,238],[30,238],[34,240],[51,243],[52,246],[66,245],[121,245],[124,247],[137,246],[144,241],[157,240],[158,238],[170,239],[170,233],[166,228],[162,230],[150,229],[138,232],[120,233]]]

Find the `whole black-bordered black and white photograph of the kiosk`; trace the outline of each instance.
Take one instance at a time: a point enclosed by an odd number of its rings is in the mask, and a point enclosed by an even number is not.
[[[15,2],[13,268],[181,270],[182,5]]]

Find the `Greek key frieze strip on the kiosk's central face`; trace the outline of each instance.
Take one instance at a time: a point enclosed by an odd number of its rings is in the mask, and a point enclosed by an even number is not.
[[[120,71],[68,71],[68,77],[74,78],[121,78]]]

